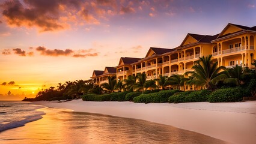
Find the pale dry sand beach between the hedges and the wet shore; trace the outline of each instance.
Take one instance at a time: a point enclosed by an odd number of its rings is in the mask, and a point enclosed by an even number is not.
[[[242,103],[144,104],[73,100],[37,101],[47,107],[144,119],[195,131],[231,143],[256,143],[256,101]]]

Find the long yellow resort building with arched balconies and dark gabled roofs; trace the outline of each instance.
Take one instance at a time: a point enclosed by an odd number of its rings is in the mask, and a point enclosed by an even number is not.
[[[145,58],[120,58],[115,73],[117,80],[146,73],[147,80],[157,79],[160,74],[172,76],[191,71],[194,62],[201,56],[213,55],[213,60],[219,66],[227,68],[235,65],[252,68],[255,59],[256,26],[247,27],[228,23],[216,35],[187,34],[180,46],[174,49],[150,47]],[[106,68],[105,68],[106,71]],[[97,76],[92,79],[97,85],[103,83],[109,74]],[[96,81],[95,81],[96,80]],[[106,81],[105,81],[106,82]],[[185,90],[197,90],[194,86],[186,86]]]

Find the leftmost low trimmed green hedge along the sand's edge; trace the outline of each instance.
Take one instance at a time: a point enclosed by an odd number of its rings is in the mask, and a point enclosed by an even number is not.
[[[82,100],[84,101],[125,101],[126,94],[130,91],[124,92],[112,92],[111,94],[103,94],[103,95],[96,95],[96,94],[87,94],[83,95]]]

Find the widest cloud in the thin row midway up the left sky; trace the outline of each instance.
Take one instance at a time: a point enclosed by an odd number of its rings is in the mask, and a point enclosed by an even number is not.
[[[40,52],[41,55],[46,55],[46,56],[69,56],[71,53],[73,53],[73,50],[71,49],[66,49],[66,50],[60,50],[60,49],[54,49],[54,50],[49,50],[46,49],[45,47],[37,47],[35,50]]]

